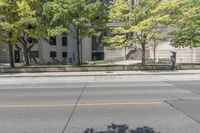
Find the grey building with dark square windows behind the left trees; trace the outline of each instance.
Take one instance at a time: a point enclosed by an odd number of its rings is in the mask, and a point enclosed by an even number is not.
[[[82,62],[103,60],[103,47],[98,44],[97,37],[84,38],[82,43]],[[23,62],[23,53],[14,48],[15,63]],[[32,64],[73,64],[77,62],[76,41],[70,36],[50,37],[49,41],[39,40],[31,49],[30,61]],[[0,63],[9,62],[8,46],[0,45]]]

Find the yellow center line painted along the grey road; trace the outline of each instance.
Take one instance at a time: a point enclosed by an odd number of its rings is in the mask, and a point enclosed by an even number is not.
[[[77,106],[112,106],[112,105],[155,105],[162,102],[119,102],[119,103],[80,103]],[[75,104],[33,104],[33,105],[0,105],[0,108],[42,108],[42,107],[73,107]]]

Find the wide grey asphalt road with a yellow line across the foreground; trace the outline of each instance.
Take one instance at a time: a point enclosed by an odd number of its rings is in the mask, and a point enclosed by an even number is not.
[[[167,77],[0,78],[0,133],[103,132],[111,123],[200,133],[199,79]]]

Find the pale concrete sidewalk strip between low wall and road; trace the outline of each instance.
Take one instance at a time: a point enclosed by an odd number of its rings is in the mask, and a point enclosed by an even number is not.
[[[3,78],[3,77],[123,76],[123,75],[191,75],[191,74],[192,75],[200,74],[200,70],[1,73],[0,78]]]

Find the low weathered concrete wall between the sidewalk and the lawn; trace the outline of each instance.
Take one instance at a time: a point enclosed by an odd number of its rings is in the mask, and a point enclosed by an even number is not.
[[[132,70],[170,70],[171,66],[83,66],[83,67],[34,67],[0,68],[1,73],[34,72],[95,72],[95,71],[132,71]]]

